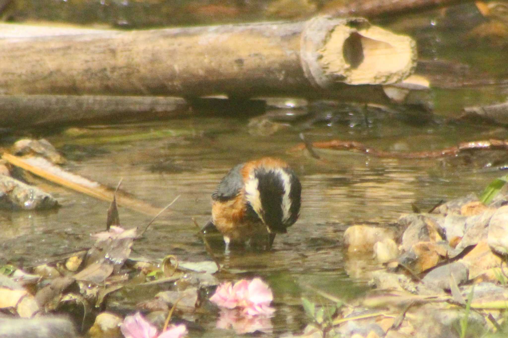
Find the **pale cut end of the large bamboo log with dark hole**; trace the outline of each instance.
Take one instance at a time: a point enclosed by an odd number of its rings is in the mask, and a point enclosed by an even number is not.
[[[301,54],[307,78],[322,88],[339,82],[396,83],[414,71],[417,61],[414,40],[362,18],[310,20],[302,34]]]

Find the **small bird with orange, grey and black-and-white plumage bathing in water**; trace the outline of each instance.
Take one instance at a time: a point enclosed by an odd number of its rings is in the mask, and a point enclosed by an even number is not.
[[[272,158],[231,169],[212,194],[212,222],[229,243],[273,244],[300,212],[302,186],[287,163]],[[211,225],[211,224],[209,224]]]

